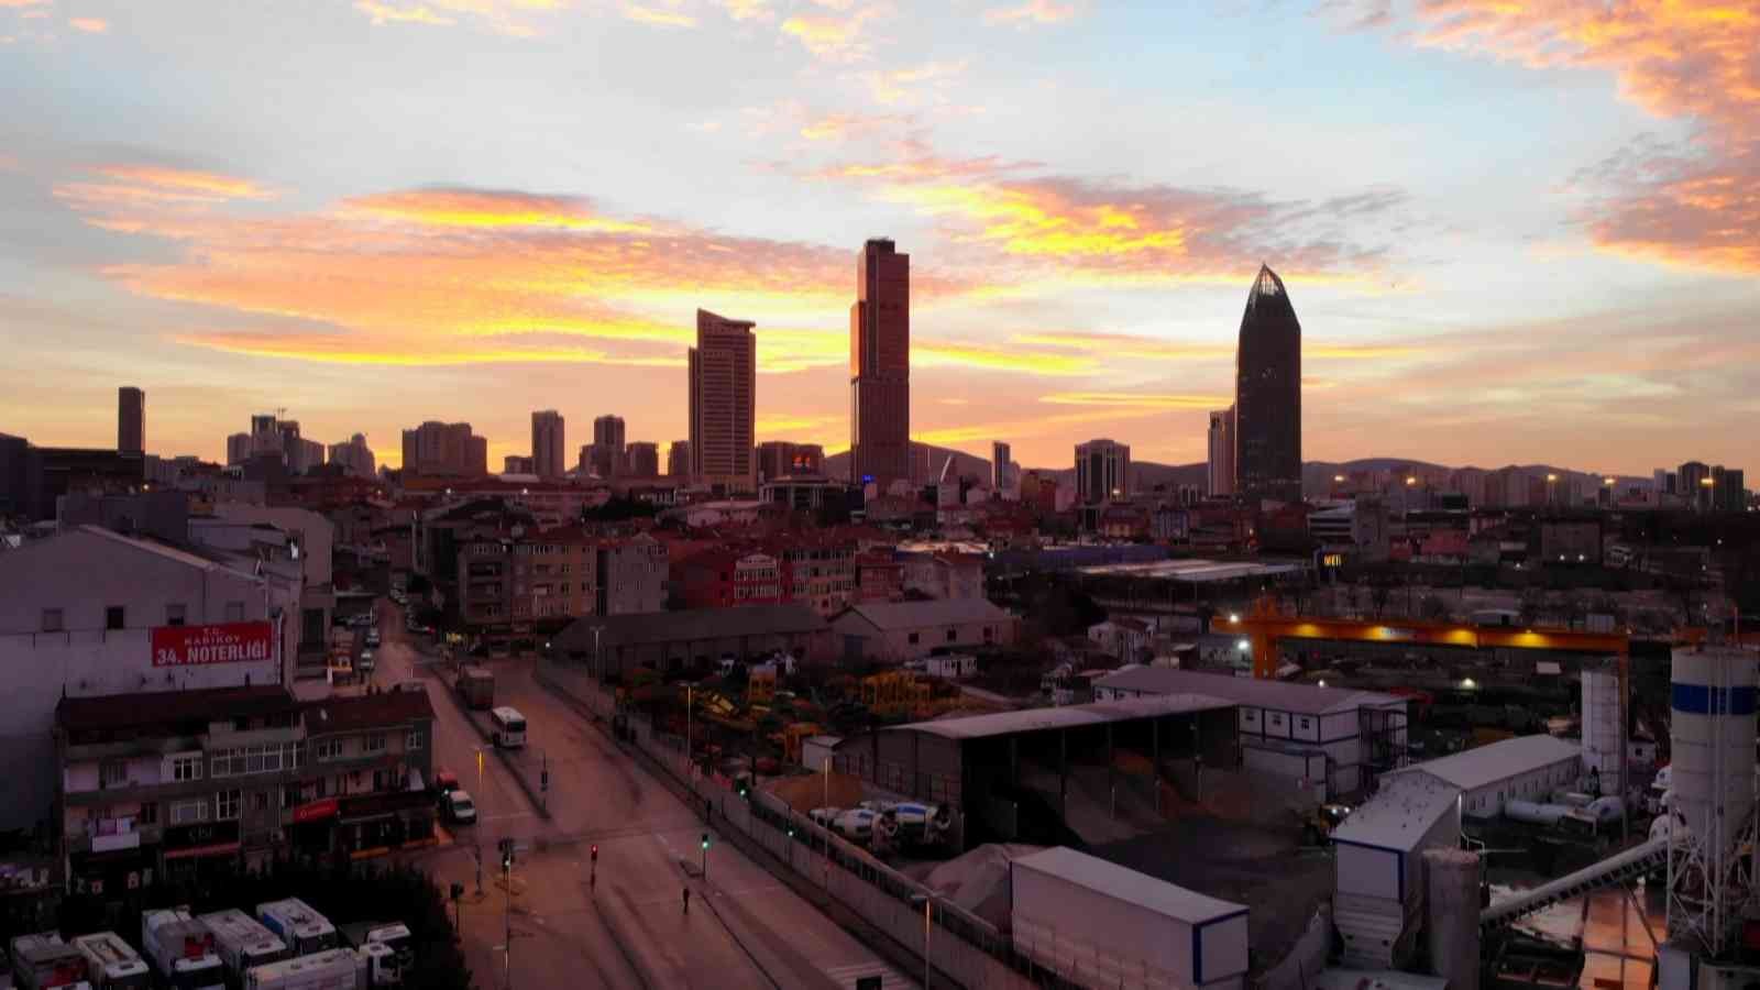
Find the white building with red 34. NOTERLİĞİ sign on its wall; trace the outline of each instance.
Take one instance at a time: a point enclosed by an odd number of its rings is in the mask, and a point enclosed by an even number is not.
[[[63,698],[285,683],[278,622],[252,571],[100,527],[0,555],[0,830],[48,819]]]

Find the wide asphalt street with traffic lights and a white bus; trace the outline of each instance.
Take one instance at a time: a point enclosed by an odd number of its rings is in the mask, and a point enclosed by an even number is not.
[[[414,648],[401,611],[389,601],[378,610],[384,646],[377,683],[428,683],[435,768],[458,773],[477,803],[477,824],[445,826],[452,842],[415,858],[442,890],[465,884],[465,955],[479,986],[505,979],[510,986],[570,988],[831,988],[854,986],[868,974],[884,976],[887,988],[915,985],[718,837],[711,835],[708,877],[693,875],[702,861],[700,816],[537,685],[532,661],[489,661],[489,668],[495,703],[526,717],[528,754],[521,759],[547,759],[551,819],[493,750],[484,752],[479,779],[482,736],[449,696],[438,659]],[[523,847],[512,897],[500,875],[496,844],[503,837]],[[473,849],[482,854],[480,898]],[[503,972],[500,946],[509,923],[512,957]]]

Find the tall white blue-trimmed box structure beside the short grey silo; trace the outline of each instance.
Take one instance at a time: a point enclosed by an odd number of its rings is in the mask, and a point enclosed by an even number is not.
[[[1424,849],[1459,844],[1461,791],[1424,773],[1385,777],[1332,830],[1332,923],[1346,965],[1404,965],[1424,920]]]

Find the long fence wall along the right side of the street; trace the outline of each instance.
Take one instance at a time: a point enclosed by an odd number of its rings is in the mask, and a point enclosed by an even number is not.
[[[579,706],[611,719],[616,703],[583,668],[539,661],[540,683]],[[648,754],[674,780],[690,789],[704,809],[713,807],[713,826],[744,837],[769,854],[769,868],[785,868],[824,895],[854,911],[899,948],[924,957],[924,904],[933,918],[928,932],[928,960],[936,983],[966,988],[1075,986],[1044,969],[1014,942],[963,907],[942,900],[929,888],[875,860],[864,849],[820,828],[774,794],[753,791],[741,800],[702,773],[693,772],[685,742],[651,726],[630,720],[630,742]]]

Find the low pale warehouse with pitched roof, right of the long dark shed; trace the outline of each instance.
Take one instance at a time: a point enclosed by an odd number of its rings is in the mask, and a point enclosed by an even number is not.
[[[905,662],[931,652],[1007,646],[1019,620],[987,599],[862,602],[831,622],[843,662]]]

